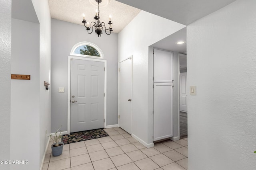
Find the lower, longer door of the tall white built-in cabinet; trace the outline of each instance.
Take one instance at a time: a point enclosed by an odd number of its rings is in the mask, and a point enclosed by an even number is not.
[[[153,141],[173,136],[172,83],[154,83]]]

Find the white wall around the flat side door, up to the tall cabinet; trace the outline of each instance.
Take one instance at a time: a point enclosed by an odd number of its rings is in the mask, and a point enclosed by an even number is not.
[[[185,25],[142,11],[118,34],[118,61],[133,55],[132,135],[147,147],[153,145],[148,47],[183,27]]]

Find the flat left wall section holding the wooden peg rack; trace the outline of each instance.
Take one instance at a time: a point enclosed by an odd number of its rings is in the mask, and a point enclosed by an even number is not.
[[[28,160],[12,169],[33,169],[39,165],[39,23],[12,19],[11,61],[11,73],[28,74],[30,80],[11,83],[10,160]]]

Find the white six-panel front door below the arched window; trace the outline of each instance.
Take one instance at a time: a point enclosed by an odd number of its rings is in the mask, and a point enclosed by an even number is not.
[[[71,60],[70,132],[104,127],[104,62]]]

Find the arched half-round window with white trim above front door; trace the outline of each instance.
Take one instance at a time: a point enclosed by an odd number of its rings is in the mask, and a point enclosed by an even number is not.
[[[70,55],[104,59],[103,53],[100,50],[100,48],[97,45],[90,42],[77,43],[72,48]]]

